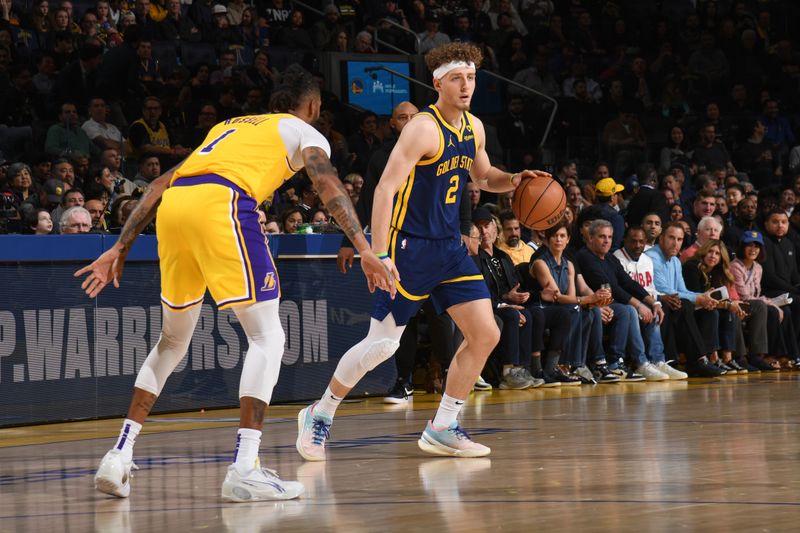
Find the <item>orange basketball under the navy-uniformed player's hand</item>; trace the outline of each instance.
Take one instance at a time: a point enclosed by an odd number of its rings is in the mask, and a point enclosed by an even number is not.
[[[555,225],[566,207],[564,188],[551,178],[524,178],[514,191],[511,203],[520,224],[537,230]]]

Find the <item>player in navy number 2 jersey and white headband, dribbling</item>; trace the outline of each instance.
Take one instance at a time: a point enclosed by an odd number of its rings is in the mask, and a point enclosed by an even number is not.
[[[491,165],[483,123],[471,115],[480,50],[450,43],[428,53],[439,93],[436,104],[403,128],[375,189],[372,249],[395,273],[397,296],[378,294],[367,337],[339,361],[323,397],[298,414],[297,450],[306,460],[325,460],[325,442],[339,403],[370,370],[399,346],[408,320],[431,298],[464,334],[447,375],[447,389],[419,447],[434,455],[481,457],[490,449],[472,441],[457,417],[486,359],[500,338],[486,283],[467,254],[459,231],[459,201],[470,178],[481,189],[506,192],[522,178]]]

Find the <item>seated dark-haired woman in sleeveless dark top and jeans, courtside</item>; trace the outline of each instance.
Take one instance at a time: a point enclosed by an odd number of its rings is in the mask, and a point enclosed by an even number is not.
[[[529,306],[535,330],[534,370],[542,372],[545,386],[557,382],[563,385],[581,381],[593,383],[595,377],[587,368],[587,356],[591,354],[590,364],[598,372],[600,382],[619,381],[605,367],[602,316],[596,307],[610,296],[605,292],[592,293],[585,284],[581,294],[589,294],[578,296],[576,283],[582,283],[582,278],[576,276],[574,264],[564,257],[569,239],[569,225],[562,219],[544,232],[543,246],[530,264],[532,299],[539,302]],[[550,328],[550,338],[542,365],[536,355],[543,347],[545,327]],[[558,366],[562,350],[563,363],[569,365],[570,374],[565,374]]]

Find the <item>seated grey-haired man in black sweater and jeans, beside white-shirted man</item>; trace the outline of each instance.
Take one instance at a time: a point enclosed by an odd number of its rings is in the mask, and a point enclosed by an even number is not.
[[[643,340],[643,337],[650,339],[651,347],[661,343],[661,332],[658,328],[664,316],[661,304],[634,282],[617,258],[611,255],[612,233],[610,222],[594,220],[588,228],[589,241],[577,254],[578,266],[589,288],[599,291],[608,285],[614,298],[607,306],[613,312],[610,321],[609,355],[614,361],[620,361],[617,368],[624,381],[641,381],[642,378],[648,381],[670,379],[668,374],[656,366],[663,362],[663,354],[659,354],[657,350],[645,354]],[[630,355],[635,371],[628,370],[621,363],[625,360],[626,353]],[[655,359],[648,360],[648,355]],[[612,370],[614,366],[612,363]]]

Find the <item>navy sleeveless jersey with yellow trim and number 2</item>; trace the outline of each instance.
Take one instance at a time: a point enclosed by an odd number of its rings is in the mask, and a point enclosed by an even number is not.
[[[439,125],[439,151],[416,164],[394,199],[391,226],[426,239],[452,239],[460,233],[459,203],[475,159],[472,116],[464,112],[461,129],[447,123],[435,106],[429,115]]]

